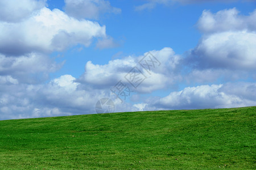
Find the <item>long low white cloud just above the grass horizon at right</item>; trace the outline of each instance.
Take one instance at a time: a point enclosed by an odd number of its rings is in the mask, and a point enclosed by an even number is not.
[[[186,87],[181,91],[152,100],[152,105],[160,109],[203,109],[232,108],[256,105],[256,83],[228,83]],[[232,90],[230,90],[230,87]]]

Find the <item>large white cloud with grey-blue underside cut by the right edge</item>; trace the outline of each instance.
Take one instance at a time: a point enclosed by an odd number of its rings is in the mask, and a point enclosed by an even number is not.
[[[201,68],[227,68],[255,70],[256,33],[220,32],[203,37],[192,59],[197,59]]]

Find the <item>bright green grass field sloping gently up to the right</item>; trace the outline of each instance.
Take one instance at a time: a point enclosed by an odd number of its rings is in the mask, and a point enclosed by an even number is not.
[[[0,121],[0,169],[254,169],[256,107]]]

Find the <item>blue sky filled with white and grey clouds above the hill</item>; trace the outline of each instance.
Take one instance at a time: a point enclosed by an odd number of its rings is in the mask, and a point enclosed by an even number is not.
[[[0,120],[255,96],[256,1],[0,1]]]

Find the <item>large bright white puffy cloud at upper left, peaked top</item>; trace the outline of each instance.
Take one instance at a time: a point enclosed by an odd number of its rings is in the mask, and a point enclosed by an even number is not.
[[[93,37],[106,37],[105,26],[46,7],[19,23],[0,22],[0,29],[0,53],[16,56],[60,51],[76,44],[89,46]]]

